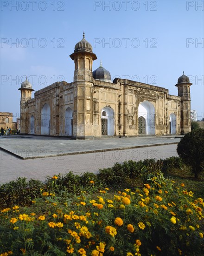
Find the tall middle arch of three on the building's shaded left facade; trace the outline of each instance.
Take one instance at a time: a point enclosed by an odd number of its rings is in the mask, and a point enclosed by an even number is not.
[[[50,105],[47,103],[41,110],[41,135],[50,135]]]

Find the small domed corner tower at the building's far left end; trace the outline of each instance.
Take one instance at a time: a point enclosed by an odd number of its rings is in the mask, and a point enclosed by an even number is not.
[[[28,121],[29,121],[29,113],[27,108],[27,101],[31,99],[31,93],[34,91],[32,89],[31,83],[26,81],[21,83],[21,87],[19,88],[21,92],[20,97],[20,134],[28,134]]]

